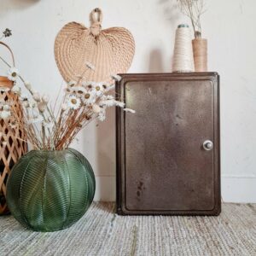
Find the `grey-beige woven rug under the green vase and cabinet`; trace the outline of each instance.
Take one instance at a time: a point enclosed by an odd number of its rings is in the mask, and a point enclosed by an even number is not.
[[[0,217],[0,255],[256,255],[256,205],[218,217],[120,217],[94,203],[68,230],[36,233]]]

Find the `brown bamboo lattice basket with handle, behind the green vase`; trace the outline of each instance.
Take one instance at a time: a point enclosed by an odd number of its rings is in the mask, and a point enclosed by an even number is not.
[[[3,44],[3,42],[0,42],[0,44]],[[6,44],[3,45],[9,49]],[[0,101],[11,102],[12,108],[15,109],[15,118],[22,120],[22,108],[19,97],[11,90],[3,90],[7,88],[11,89],[13,85],[13,82],[9,81],[8,78],[0,77]],[[6,183],[10,170],[17,160],[27,151],[26,143],[20,140],[25,140],[25,133],[18,126],[15,128],[10,127],[9,123],[12,119],[14,119],[14,116],[5,120],[0,119],[0,215],[9,213],[6,204]]]

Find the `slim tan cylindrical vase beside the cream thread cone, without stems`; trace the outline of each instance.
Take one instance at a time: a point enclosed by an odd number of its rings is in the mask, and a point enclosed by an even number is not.
[[[192,44],[195,72],[207,72],[207,39],[196,38]]]

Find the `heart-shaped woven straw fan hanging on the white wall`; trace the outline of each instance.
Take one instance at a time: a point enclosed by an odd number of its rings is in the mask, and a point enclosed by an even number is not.
[[[97,15],[97,18],[96,18]],[[102,11],[90,13],[91,26],[68,23],[55,39],[55,61],[67,82],[105,82],[117,73],[126,73],[134,56],[134,39],[127,29],[111,27],[102,30]],[[88,69],[91,63],[95,70]]]

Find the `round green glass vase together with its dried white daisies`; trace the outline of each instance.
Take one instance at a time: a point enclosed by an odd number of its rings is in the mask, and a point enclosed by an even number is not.
[[[20,97],[24,119],[20,121],[15,116],[12,102],[8,110],[0,111],[0,116],[2,119],[14,116],[13,125],[22,126],[32,148],[9,176],[7,201],[10,211],[20,224],[32,230],[67,228],[83,216],[95,193],[95,177],[89,161],[68,147],[92,120],[103,121],[107,108],[124,108],[125,104],[108,94],[113,84],[86,81],[86,73],[96,70],[89,62],[84,62],[86,69],[77,80],[66,84],[63,96],[60,94],[50,104],[49,96],[40,95],[15,67],[1,60],[9,66],[9,79],[15,83],[11,90]],[[111,78],[112,81],[120,79],[118,75]],[[18,79],[23,82],[27,94],[16,83]],[[124,110],[134,113],[131,109]]]

